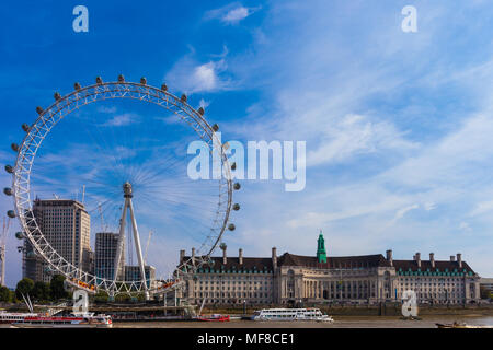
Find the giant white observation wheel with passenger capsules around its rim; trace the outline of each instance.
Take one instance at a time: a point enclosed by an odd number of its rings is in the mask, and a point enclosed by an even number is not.
[[[98,77],[95,84],[76,83],[72,92],[54,97],[47,108],[36,108],[33,124],[22,125],[22,142],[11,145],[15,163],[5,165],[12,186],[4,194],[14,203],[8,215],[18,218],[22,229],[16,236],[26,238],[51,271],[90,293],[141,293],[148,299],[182,288],[186,275],[209,264],[225,232],[234,230],[230,215],[240,208],[232,201],[240,189],[232,180],[236,164],[228,162],[228,144],[217,124],[209,125],[204,106],[192,107],[185,94],[177,97],[165,84],[154,88],[146,78],[137,83],[123,75],[113,82]],[[202,142],[220,176],[196,179],[186,174],[186,145],[193,140]],[[115,232],[111,276],[84,270],[57,252],[33,212],[38,196],[74,198],[91,214],[91,232]],[[153,234],[142,244],[147,230]],[[146,273],[150,264],[170,266],[180,244],[196,245],[196,254],[172,264],[167,278]],[[134,264],[134,255],[139,277],[127,279],[121,269]]]

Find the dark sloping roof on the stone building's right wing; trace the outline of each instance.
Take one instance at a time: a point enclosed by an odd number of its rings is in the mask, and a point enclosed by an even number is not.
[[[421,260],[421,268],[417,267],[416,260],[393,260],[395,271],[399,272],[432,272],[432,273],[450,273],[450,276],[460,276],[461,273],[474,275],[472,268],[462,260],[462,267],[459,261],[435,260],[435,267],[432,267],[429,260]],[[403,273],[401,273],[403,275]]]

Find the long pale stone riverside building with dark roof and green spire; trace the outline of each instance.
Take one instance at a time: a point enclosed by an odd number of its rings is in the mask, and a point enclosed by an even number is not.
[[[416,293],[420,304],[465,304],[480,299],[479,276],[462,260],[461,254],[449,260],[394,260],[392,250],[362,256],[326,255],[322,233],[317,254],[301,256],[272,248],[271,257],[222,257],[197,269],[185,281],[183,295],[192,304],[290,304],[342,303],[376,304],[400,301],[406,290]],[[195,249],[193,249],[194,252]],[[180,252],[180,261],[190,256]]]

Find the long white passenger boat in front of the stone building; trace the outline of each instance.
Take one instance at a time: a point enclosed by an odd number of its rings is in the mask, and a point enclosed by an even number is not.
[[[316,320],[334,322],[334,319],[322,314],[319,308],[263,308],[255,311],[253,320]]]

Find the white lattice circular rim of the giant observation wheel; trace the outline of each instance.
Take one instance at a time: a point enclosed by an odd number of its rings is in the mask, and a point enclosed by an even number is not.
[[[15,166],[14,171],[12,173],[12,190],[13,190],[13,200],[14,200],[14,211],[16,217],[19,218],[21,222],[21,226],[23,231],[25,232],[25,236],[30,241],[30,243],[33,245],[33,247],[36,249],[37,253],[41,254],[41,256],[49,264],[50,267],[55,268],[58,272],[64,275],[68,282],[70,284],[73,284],[78,288],[85,289],[90,292],[96,292],[98,290],[104,290],[106,292],[113,292],[113,293],[133,293],[133,292],[141,292],[144,282],[142,281],[122,281],[116,279],[105,279],[95,276],[95,273],[89,273],[88,271],[83,271],[81,268],[76,267],[72,262],[67,261],[58,252],[56,252],[55,248],[49,244],[49,242],[44,236],[39,225],[36,222],[36,219],[32,214],[32,200],[31,200],[31,171],[32,166],[34,164],[34,160],[36,156],[37,150],[41,148],[43,140],[46,138],[46,136],[50,132],[51,128],[56,126],[65,116],[68,116],[73,110],[83,107],[85,105],[104,101],[104,100],[116,100],[116,98],[134,98],[139,100],[142,102],[148,103],[154,103],[168,110],[173,112],[174,114],[179,115],[184,121],[186,121],[194,131],[200,137],[200,139],[204,140],[205,137],[208,137],[208,143],[213,147],[220,148],[220,160],[221,164],[223,165],[225,172],[222,173],[222,176],[226,177],[225,185],[227,187],[227,200],[226,202],[226,209],[223,211],[222,220],[220,221],[220,230],[219,233],[216,233],[215,236],[207,236],[206,241],[202,244],[202,246],[205,246],[207,243],[210,245],[209,249],[207,249],[206,254],[200,255],[197,259],[192,261],[192,258],[188,258],[186,261],[179,261],[179,266],[176,267],[175,271],[181,271],[180,273],[186,275],[191,273],[191,271],[194,271],[197,267],[207,264],[210,255],[214,253],[216,247],[218,246],[225,231],[228,224],[230,210],[231,210],[231,203],[232,203],[232,179],[231,179],[231,172],[230,172],[230,165],[228,162],[228,158],[226,156],[223,144],[221,143],[220,139],[216,136],[216,131],[203,117],[204,110],[198,112],[195,108],[193,108],[187,102],[186,96],[185,98],[179,98],[174,94],[170,93],[168,90],[158,89],[152,85],[148,85],[147,82],[145,83],[135,83],[135,82],[126,82],[126,81],[116,81],[116,82],[96,82],[96,84],[88,85],[88,86],[77,86],[76,84],[76,91],[72,91],[65,96],[60,96],[57,93],[55,94],[55,103],[53,103],[49,107],[47,107],[44,110],[38,110],[38,117],[36,120],[28,127],[28,130],[26,131],[25,137],[22,140],[22,143],[19,145],[19,150],[16,152],[16,160],[15,160]],[[78,89],[79,88],[79,89]],[[111,89],[113,88],[113,89]],[[123,88],[123,89],[122,89]],[[87,93],[91,92],[91,93]],[[85,93],[85,94],[84,94]],[[138,94],[136,96],[133,95]],[[98,100],[99,96],[102,96],[102,98]],[[163,98],[163,96],[165,98]],[[90,100],[88,100],[90,98]],[[80,101],[83,102],[79,104]],[[158,101],[161,101],[161,103],[158,103]],[[64,104],[65,102],[68,102],[67,104]],[[165,102],[165,104],[164,104]],[[72,104],[76,104],[72,109],[69,109],[65,115],[61,114],[65,109],[69,108]],[[173,110],[172,108],[177,108]],[[56,109],[57,108],[57,109]],[[55,112],[54,112],[55,109]],[[176,112],[185,113],[186,116],[191,117],[193,121],[196,122],[195,127],[190,122],[190,120],[186,120],[186,117],[182,114],[179,114]],[[60,113],[60,115],[58,115]],[[48,117],[46,117],[48,115]],[[56,116],[58,116],[57,120],[51,120]],[[43,121],[42,126],[38,126],[38,122]],[[47,121],[50,121],[51,125],[46,127]],[[204,131],[202,135],[198,132],[197,128],[202,128]],[[36,131],[36,133],[33,136],[33,130]],[[38,137],[38,133],[41,131],[44,131],[45,133],[42,137]],[[36,137],[39,139],[36,141]],[[205,141],[205,140],[204,140]],[[28,145],[26,147],[26,143]],[[34,150],[31,149],[34,144]],[[213,150],[213,148],[211,148]],[[26,153],[27,152],[27,153]],[[27,166],[25,166],[25,162],[27,163]],[[25,178],[23,178],[23,175]],[[223,177],[220,177],[220,180],[223,179]],[[220,182],[219,182],[220,183]],[[26,198],[23,198],[22,195],[24,195]],[[219,190],[219,197],[221,196],[221,192]],[[221,198],[219,198],[218,203],[218,210],[217,210],[217,217],[221,213],[219,211],[219,208],[221,206]],[[31,218],[26,218],[26,213],[31,214]],[[27,221],[28,220],[28,221]],[[215,222],[217,219],[215,220]],[[34,228],[30,228],[28,224],[34,223]],[[34,237],[34,234],[37,234],[37,240]],[[43,244],[43,247],[41,247],[39,244]],[[198,249],[200,252],[200,249]],[[49,255],[49,256],[48,256]],[[79,278],[73,278],[73,276],[79,276]],[[180,279],[177,279],[180,281]],[[84,282],[83,282],[84,281]],[[150,281],[150,279],[146,279],[145,283],[147,284]],[[82,283],[82,284],[81,284]],[[149,283],[150,284],[150,283]],[[119,287],[118,287],[119,285]],[[170,289],[179,288],[179,283],[175,283],[174,285],[171,285]],[[159,289],[159,288],[157,288]],[[156,290],[152,288],[149,288],[149,291],[154,293]],[[158,291],[159,292],[159,291]]]

